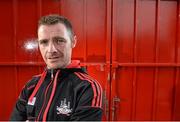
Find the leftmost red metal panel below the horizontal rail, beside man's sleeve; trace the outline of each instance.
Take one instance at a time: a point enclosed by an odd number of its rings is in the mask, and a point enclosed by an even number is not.
[[[15,67],[0,67],[0,119],[7,120],[16,100]]]

